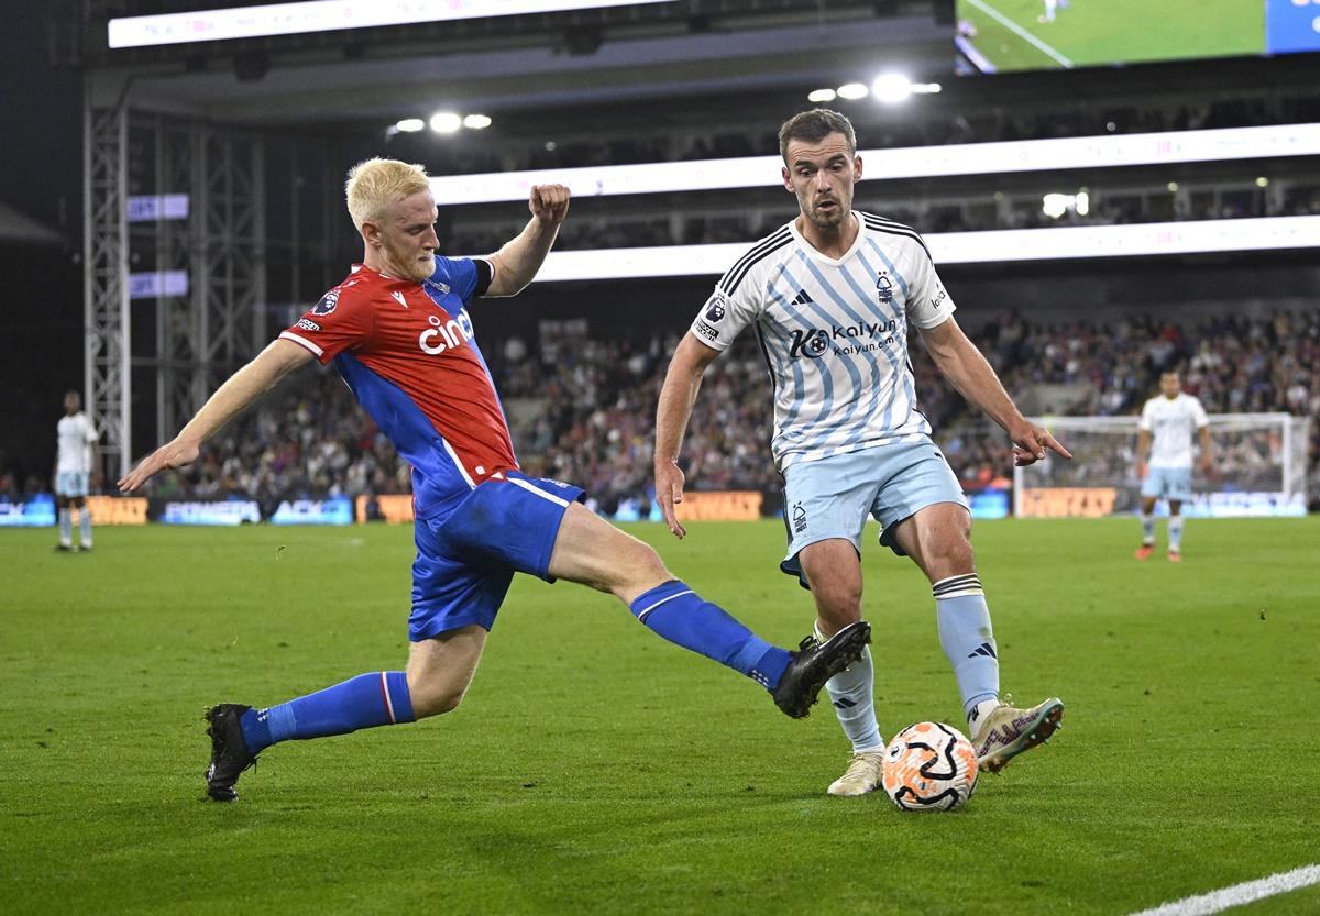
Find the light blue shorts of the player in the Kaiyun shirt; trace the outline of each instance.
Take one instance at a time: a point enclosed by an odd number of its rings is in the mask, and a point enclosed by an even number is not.
[[[779,568],[809,589],[797,554],[834,537],[861,554],[869,513],[883,525],[880,544],[907,556],[894,540],[899,523],[936,503],[968,508],[958,478],[928,437],[792,465],[784,475],[788,556]]]

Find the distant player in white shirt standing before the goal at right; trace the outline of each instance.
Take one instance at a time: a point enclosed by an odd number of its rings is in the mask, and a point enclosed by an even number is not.
[[[1146,401],[1137,433],[1137,476],[1142,480],[1142,545],[1137,558],[1155,550],[1155,500],[1168,500],[1168,558],[1183,558],[1183,503],[1192,499],[1192,434],[1201,437],[1201,470],[1214,471],[1210,421],[1205,408],[1183,391],[1177,372],[1159,377],[1159,396]],[[1147,461],[1147,455],[1150,459]]]

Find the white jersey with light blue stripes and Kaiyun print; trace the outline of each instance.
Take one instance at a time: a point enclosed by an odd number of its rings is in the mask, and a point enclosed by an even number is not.
[[[775,385],[771,451],[780,471],[931,433],[916,409],[907,330],[953,314],[915,230],[854,213],[857,242],[826,257],[793,223],[756,243],[721,277],[692,323],[725,350],[755,325]]]

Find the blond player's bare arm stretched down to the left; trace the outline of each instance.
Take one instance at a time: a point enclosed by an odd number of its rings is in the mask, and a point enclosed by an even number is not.
[[[256,359],[230,376],[228,381],[202,405],[187,425],[119,480],[120,492],[132,492],[166,467],[183,467],[197,461],[202,442],[214,436],[243,408],[267,393],[280,379],[310,363],[315,356],[293,341],[275,341]]]

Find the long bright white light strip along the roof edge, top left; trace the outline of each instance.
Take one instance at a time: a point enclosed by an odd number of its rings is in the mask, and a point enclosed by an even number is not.
[[[374,29],[383,25],[445,22],[459,18],[543,15],[574,9],[640,7],[669,0],[308,0],[186,13],[123,16],[110,20],[110,48],[183,45],[197,41],[265,38],[313,32]]]

